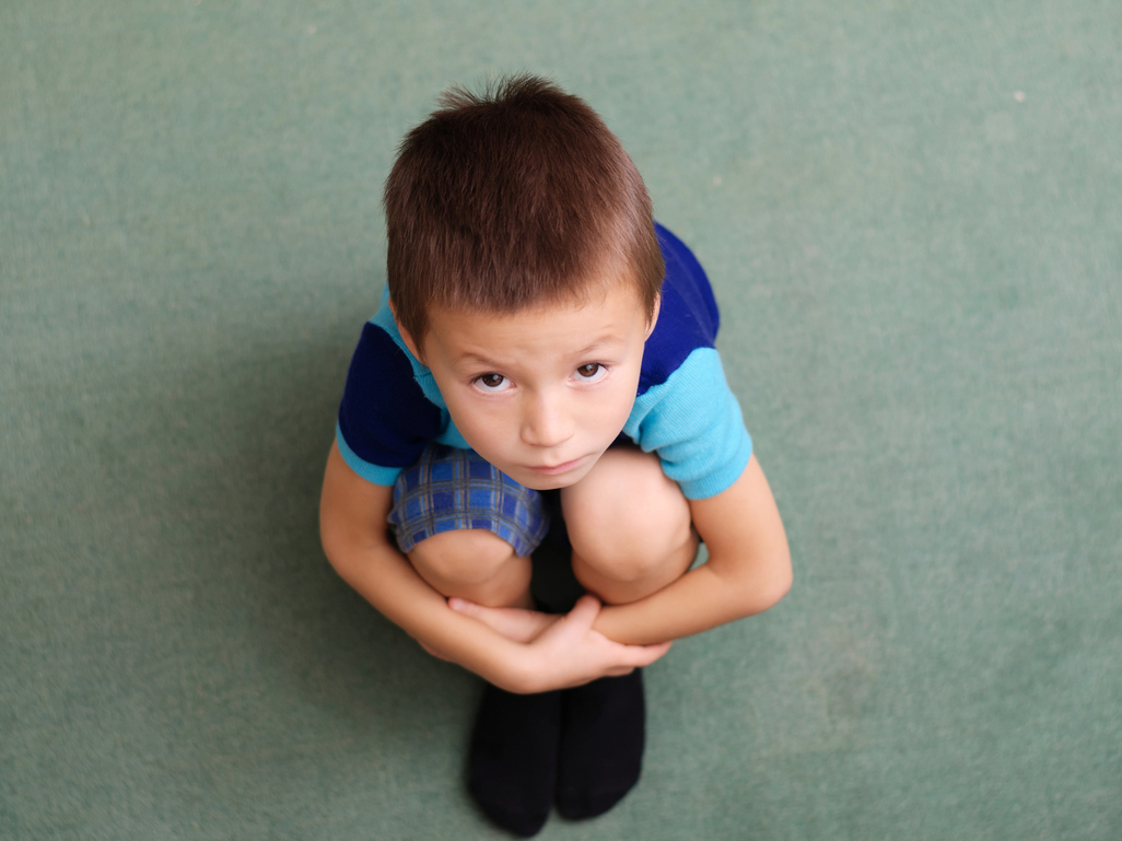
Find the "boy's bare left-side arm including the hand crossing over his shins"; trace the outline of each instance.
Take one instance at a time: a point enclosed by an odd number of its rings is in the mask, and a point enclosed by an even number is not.
[[[665,653],[668,646],[624,646],[591,630],[594,600],[568,617],[550,618],[525,643],[449,609],[390,543],[386,515],[392,502],[392,488],[356,474],[332,445],[320,500],[328,560],[387,619],[447,659],[511,692],[544,692],[625,674]]]

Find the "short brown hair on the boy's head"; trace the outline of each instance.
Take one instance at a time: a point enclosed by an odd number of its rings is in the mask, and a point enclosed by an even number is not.
[[[433,308],[516,312],[606,272],[653,315],[663,265],[634,163],[580,99],[535,76],[453,87],[386,179],[389,295],[423,341]]]

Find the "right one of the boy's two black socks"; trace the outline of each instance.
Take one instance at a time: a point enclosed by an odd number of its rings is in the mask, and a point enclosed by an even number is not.
[[[562,693],[558,811],[564,817],[604,814],[638,782],[644,719],[637,668]]]

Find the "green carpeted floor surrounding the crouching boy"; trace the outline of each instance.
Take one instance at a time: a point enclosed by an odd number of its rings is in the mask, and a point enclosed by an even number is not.
[[[709,269],[795,586],[543,839],[1122,838],[1116,0],[0,2],[0,838],[490,839],[319,549],[380,183],[585,96]]]

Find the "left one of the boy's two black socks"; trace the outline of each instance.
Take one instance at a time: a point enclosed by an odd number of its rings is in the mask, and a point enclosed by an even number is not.
[[[557,791],[561,693],[484,690],[468,752],[468,789],[487,816],[519,835],[545,824]]]

